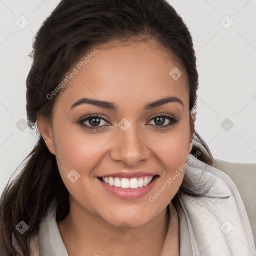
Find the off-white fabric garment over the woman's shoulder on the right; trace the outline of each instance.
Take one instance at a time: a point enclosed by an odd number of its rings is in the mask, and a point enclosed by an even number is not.
[[[188,158],[183,181],[185,187],[178,192],[178,197],[187,219],[195,254],[204,250],[205,244],[210,245],[214,238],[215,246],[207,248],[209,255],[215,254],[216,248],[221,248],[223,255],[229,255],[230,252],[244,255],[249,248],[250,252],[246,255],[254,255],[256,250],[252,228],[241,197],[243,193],[235,183],[233,172],[231,175],[225,173],[219,165],[210,166],[192,155],[188,155]],[[239,171],[236,171],[237,179],[243,169],[240,166]],[[251,175],[250,178],[254,173]],[[244,189],[248,189],[246,181],[239,180]]]

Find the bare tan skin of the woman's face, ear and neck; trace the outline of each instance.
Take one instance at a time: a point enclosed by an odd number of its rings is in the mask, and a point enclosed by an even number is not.
[[[171,220],[170,255],[179,255],[178,217],[172,204],[170,215],[167,207],[185,172],[154,202],[148,197],[186,163],[192,149],[185,69],[153,39],[129,44],[112,41],[96,48],[99,52],[56,101],[51,121],[37,116],[37,127],[50,152],[56,155],[70,193],[70,212],[58,222],[67,252],[69,256],[160,255]],[[169,75],[175,66],[183,72],[178,80]],[[183,106],[170,102],[143,110],[145,104],[166,96],[180,98]],[[112,102],[118,110],[89,104],[70,110],[82,97]],[[98,130],[86,130],[76,123],[93,114],[107,119],[101,119]],[[179,122],[157,129],[171,122],[165,118],[164,124],[157,124],[154,118],[162,114],[174,116]],[[123,118],[131,124],[125,132],[118,127]],[[91,126],[89,121],[86,124]],[[74,183],[67,178],[72,169],[80,174]],[[117,198],[99,185],[97,177],[124,169],[149,171],[159,178],[141,198]],[[123,221],[131,227],[126,233],[119,229]]]

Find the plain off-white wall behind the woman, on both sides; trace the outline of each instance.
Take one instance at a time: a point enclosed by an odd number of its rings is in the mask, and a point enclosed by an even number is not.
[[[26,120],[28,54],[59,0],[0,0],[0,193],[35,144]],[[196,130],[214,158],[256,163],[256,0],[170,0],[194,41],[199,73]],[[29,24],[20,29],[23,15]],[[231,24],[231,19],[234,24]],[[223,19],[224,18],[224,19]],[[223,20],[221,22],[221,20]],[[21,21],[19,21],[21,22]],[[24,23],[23,23],[24,24]],[[221,123],[234,125],[226,131]],[[22,122],[22,121],[21,121]]]

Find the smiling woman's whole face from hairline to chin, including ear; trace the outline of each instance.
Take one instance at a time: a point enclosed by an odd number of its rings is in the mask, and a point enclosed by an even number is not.
[[[140,226],[166,209],[183,180],[184,171],[173,176],[192,148],[186,72],[154,40],[96,48],[80,70],[70,69],[78,72],[52,122],[38,116],[37,127],[70,200],[112,225]],[[152,104],[163,98],[172,100]]]

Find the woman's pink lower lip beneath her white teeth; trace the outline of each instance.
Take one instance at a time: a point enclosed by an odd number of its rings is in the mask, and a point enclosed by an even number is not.
[[[115,195],[116,197],[126,199],[126,200],[131,200],[131,199],[140,198],[146,195],[147,193],[149,193],[152,190],[158,178],[159,176],[156,176],[148,185],[143,187],[138,187],[136,189],[110,186],[105,182],[103,182],[102,180],[100,180],[99,178],[98,180],[100,184],[106,189],[107,192]]]

